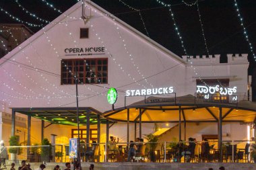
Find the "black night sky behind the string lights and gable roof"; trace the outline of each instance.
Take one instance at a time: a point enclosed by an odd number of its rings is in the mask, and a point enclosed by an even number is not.
[[[77,3],[76,0],[46,0],[57,9],[66,11]],[[110,13],[115,14],[133,28],[146,34],[141,18],[137,11],[129,9],[123,5],[119,0],[92,0],[100,7],[106,9]],[[172,17],[168,11],[168,7],[163,7],[156,0],[122,0],[131,7],[141,10],[143,21],[148,30],[150,38],[168,48],[170,51],[181,56],[184,55],[181,42],[174,30]],[[177,26],[187,53],[189,55],[207,54],[205,44],[201,33],[201,26],[199,22],[199,15],[197,13],[197,6],[188,7],[181,0],[162,0],[165,3],[172,5],[171,9],[174,13]],[[187,3],[193,3],[195,0],[185,0]],[[249,40],[253,44],[256,52],[256,1],[255,0],[236,0],[238,7],[243,16],[243,23],[247,28]],[[52,21],[61,13],[54,11],[47,6],[42,0],[19,0],[31,13],[35,13],[38,17]],[[248,53],[249,54],[249,74],[252,74],[255,67],[255,61],[249,50],[249,44],[243,35],[243,28],[238,19],[236,8],[234,7],[234,0],[199,0],[199,10],[201,13],[201,20],[205,32],[205,38],[210,54],[222,54],[221,62],[226,62],[226,54],[229,53]],[[20,19],[35,24],[44,24],[38,22],[28,13],[22,11],[15,0],[0,0],[0,7],[8,11]],[[17,23],[8,15],[0,11],[0,23]],[[34,32],[40,28],[30,28]],[[147,35],[147,34],[146,34]]]

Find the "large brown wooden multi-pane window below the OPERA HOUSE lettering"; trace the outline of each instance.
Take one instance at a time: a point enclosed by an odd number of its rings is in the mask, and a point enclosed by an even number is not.
[[[75,67],[76,66],[76,67]],[[61,62],[61,84],[75,84],[75,70],[79,83],[108,83],[108,58],[67,59]],[[73,75],[72,75],[73,74]]]

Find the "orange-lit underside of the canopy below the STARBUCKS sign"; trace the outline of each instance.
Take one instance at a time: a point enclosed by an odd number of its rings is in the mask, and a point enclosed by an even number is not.
[[[179,106],[147,107],[141,109],[142,122],[179,122]],[[210,122],[219,119],[220,109],[218,107],[196,108],[191,106],[181,107],[181,121],[187,122]],[[127,121],[127,110],[108,112],[106,118],[117,121]],[[222,118],[225,122],[254,122],[256,112],[249,110],[237,110],[234,108],[222,108]],[[139,122],[139,109],[129,108],[129,121]]]

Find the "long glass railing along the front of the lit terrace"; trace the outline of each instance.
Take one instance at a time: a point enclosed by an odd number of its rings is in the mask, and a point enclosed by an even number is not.
[[[133,144],[137,147],[137,151],[130,147]],[[9,155],[7,163],[19,160],[27,160],[31,163],[73,161],[69,159],[68,144],[6,148]],[[79,151],[82,162],[253,163],[256,161],[255,141],[247,140],[223,140],[221,148],[218,148],[218,140],[119,142],[112,145],[105,142],[81,144]]]

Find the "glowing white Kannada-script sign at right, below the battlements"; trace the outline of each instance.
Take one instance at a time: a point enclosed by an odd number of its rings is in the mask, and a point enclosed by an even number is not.
[[[226,88],[220,87],[219,85],[216,86],[204,86],[204,85],[197,85],[197,93],[205,94],[205,99],[209,99],[209,94],[215,94],[219,92],[220,95],[234,95],[236,93],[236,87],[233,88]],[[237,96],[234,96],[232,100],[237,100]]]

